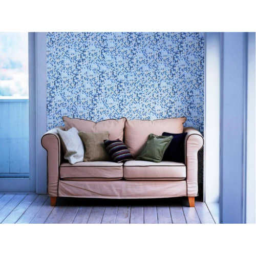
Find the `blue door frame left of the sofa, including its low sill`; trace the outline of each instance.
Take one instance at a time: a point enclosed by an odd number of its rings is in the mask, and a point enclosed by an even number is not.
[[[47,131],[46,33],[29,32],[29,178],[0,179],[6,193],[47,193],[47,154],[41,137]]]

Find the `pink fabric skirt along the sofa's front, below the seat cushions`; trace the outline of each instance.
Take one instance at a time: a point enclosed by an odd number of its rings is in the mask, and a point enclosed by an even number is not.
[[[51,195],[50,195],[51,196]],[[59,180],[59,197],[140,199],[187,196],[186,181]]]

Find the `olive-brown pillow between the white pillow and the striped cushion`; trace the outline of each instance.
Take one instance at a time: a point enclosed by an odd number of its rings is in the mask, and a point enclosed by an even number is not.
[[[82,143],[85,147],[83,162],[113,161],[104,146],[104,140],[109,139],[109,132],[85,133],[79,132]]]

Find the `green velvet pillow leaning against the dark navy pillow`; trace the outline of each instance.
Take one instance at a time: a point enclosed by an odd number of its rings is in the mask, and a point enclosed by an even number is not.
[[[155,163],[161,162],[163,154],[172,139],[173,136],[157,136],[155,134],[150,134],[144,150],[135,160],[150,161]]]

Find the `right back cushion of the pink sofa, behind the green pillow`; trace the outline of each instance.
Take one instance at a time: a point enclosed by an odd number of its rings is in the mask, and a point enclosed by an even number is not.
[[[161,136],[163,132],[183,133],[186,117],[159,120],[127,120],[124,127],[124,143],[133,155],[138,157],[143,151],[148,136]]]

